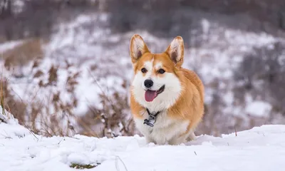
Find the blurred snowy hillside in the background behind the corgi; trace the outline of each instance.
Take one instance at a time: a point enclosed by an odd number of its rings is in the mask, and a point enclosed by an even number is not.
[[[55,29],[56,33],[43,44],[43,59],[37,63],[36,68],[33,68],[31,62],[27,66],[21,66],[19,70],[13,68],[8,71],[4,67],[5,61],[0,59],[0,68],[3,68],[1,72],[9,79],[8,89],[11,95],[15,100],[26,104],[23,118],[28,126],[33,127],[31,123],[36,122],[36,128],[43,130],[44,126],[52,125],[47,118],[56,115],[58,120],[65,121],[58,122],[61,123],[63,130],[69,126],[74,128],[76,133],[86,130],[78,125],[73,116],[69,115],[67,118],[64,115],[66,108],[76,116],[92,113],[94,110],[90,112],[90,108],[99,111],[92,116],[93,118],[86,120],[109,114],[111,118],[113,113],[117,113],[123,117],[123,120],[127,120],[125,125],[129,123],[130,110],[125,104],[125,99],[133,76],[128,49],[130,37],[134,33],[139,33],[154,53],[164,51],[172,38],[157,37],[145,30],[113,33],[106,26],[106,21],[108,14],[94,13],[81,14],[70,22],[59,24]],[[208,115],[204,118],[202,129],[197,130],[198,134],[220,135],[231,133],[234,128],[244,130],[262,123],[282,123],[276,115],[271,116],[274,111],[272,112],[273,105],[269,101],[252,93],[239,93],[237,85],[244,83],[234,80],[234,74],[243,61],[244,54],[252,52],[253,48],[284,42],[284,39],[269,33],[227,28],[207,18],[197,21],[196,25],[197,29],[193,28],[190,31],[191,40],[184,37],[184,66],[197,71],[205,85],[205,105]],[[19,43],[21,41],[0,45],[0,53]],[[48,84],[53,66],[56,68],[57,79],[54,81],[56,83]],[[17,71],[22,73],[16,74]],[[73,76],[76,78],[71,81],[70,78]],[[74,85],[67,85],[68,83]],[[47,86],[43,86],[46,84]],[[243,96],[244,101],[237,100],[234,93]],[[111,103],[107,102],[107,106],[115,104],[120,111],[114,112],[113,108],[105,107],[106,104],[102,103],[105,100],[102,94],[110,99],[117,95],[119,98]],[[59,99],[60,103],[55,103],[53,99]],[[119,104],[120,101],[124,104]],[[58,106],[63,106],[64,111],[58,110]],[[36,114],[32,113],[35,108]],[[36,121],[31,119],[33,115],[38,116]],[[42,121],[45,124],[39,124]],[[105,123],[102,122],[98,126],[98,122],[100,121],[96,120],[96,123],[89,124],[90,130],[99,133]],[[124,124],[118,121],[114,125],[119,125],[118,129],[108,130],[120,135],[122,128],[120,125]]]

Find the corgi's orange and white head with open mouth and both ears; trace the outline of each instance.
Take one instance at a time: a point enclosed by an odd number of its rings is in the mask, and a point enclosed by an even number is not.
[[[183,63],[184,43],[173,39],[163,53],[151,53],[138,34],[130,40],[130,57],[135,76],[132,93],[141,105],[150,103],[169,108],[180,96],[181,81],[177,72]]]

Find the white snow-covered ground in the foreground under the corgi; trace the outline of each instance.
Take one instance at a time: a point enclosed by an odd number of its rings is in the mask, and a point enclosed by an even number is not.
[[[138,135],[45,138],[13,119],[0,123],[1,171],[75,170],[72,164],[97,165],[90,169],[97,171],[281,171],[284,156],[285,125],[263,125],[222,137],[200,135],[172,146],[146,144]]]

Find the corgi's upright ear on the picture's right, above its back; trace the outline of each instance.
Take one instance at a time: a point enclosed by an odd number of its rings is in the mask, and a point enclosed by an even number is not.
[[[181,36],[177,36],[172,40],[170,45],[167,47],[165,53],[170,56],[171,60],[176,66],[182,66],[184,59],[184,41]]]

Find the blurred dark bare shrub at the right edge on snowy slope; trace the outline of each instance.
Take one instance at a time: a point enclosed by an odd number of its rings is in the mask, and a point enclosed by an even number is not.
[[[285,96],[285,45],[276,42],[273,45],[254,48],[244,56],[244,61],[236,69],[234,78],[237,86],[234,95],[244,101],[244,93],[251,93],[254,99],[270,103],[275,113],[283,113]]]

